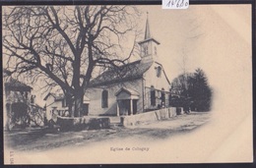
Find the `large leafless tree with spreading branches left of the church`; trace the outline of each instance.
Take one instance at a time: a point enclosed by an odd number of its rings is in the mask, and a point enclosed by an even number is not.
[[[133,6],[6,7],[7,68],[45,88],[60,86],[72,116],[80,116],[96,67],[118,67],[133,55],[139,15]],[[120,57],[121,41],[129,33],[134,45]]]

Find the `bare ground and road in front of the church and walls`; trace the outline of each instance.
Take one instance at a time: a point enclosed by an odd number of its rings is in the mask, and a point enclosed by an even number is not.
[[[123,128],[111,126],[105,130],[57,132],[48,129],[29,128],[5,133],[5,144],[17,151],[45,151],[61,147],[86,146],[104,140],[160,140],[190,133],[210,119],[211,113],[192,112],[168,120]]]

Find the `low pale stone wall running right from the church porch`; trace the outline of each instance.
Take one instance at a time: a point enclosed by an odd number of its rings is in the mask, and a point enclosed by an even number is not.
[[[123,116],[121,117],[121,124],[124,127],[136,126],[144,123],[166,120],[180,114],[183,114],[181,107],[163,108],[160,110],[136,114],[133,116]]]

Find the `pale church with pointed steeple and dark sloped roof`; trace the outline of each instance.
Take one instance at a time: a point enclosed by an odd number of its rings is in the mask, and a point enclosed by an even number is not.
[[[167,108],[170,82],[160,64],[160,42],[151,35],[146,21],[140,45],[141,59],[107,70],[92,80],[86,96],[89,116],[127,116]]]

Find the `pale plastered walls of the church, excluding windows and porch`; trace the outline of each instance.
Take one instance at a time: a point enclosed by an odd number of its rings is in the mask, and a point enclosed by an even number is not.
[[[161,69],[158,76],[158,69]],[[168,107],[168,91],[169,83],[163,73],[163,68],[158,63],[153,63],[151,68],[144,74],[143,79],[138,79],[130,82],[101,85],[98,87],[89,88],[86,95],[90,97],[89,115],[117,115],[117,100],[115,93],[122,87],[127,87],[136,90],[139,93],[137,101],[137,113],[158,109],[160,107]],[[152,87],[153,86],[153,87]],[[156,91],[156,104],[151,102],[151,90]],[[102,107],[102,91],[107,90],[107,107]],[[162,104],[162,92],[164,92],[164,103]]]

